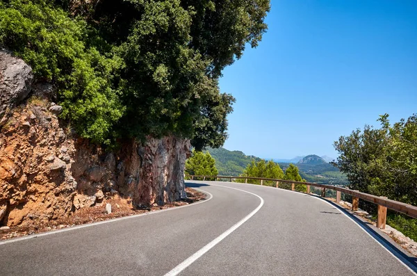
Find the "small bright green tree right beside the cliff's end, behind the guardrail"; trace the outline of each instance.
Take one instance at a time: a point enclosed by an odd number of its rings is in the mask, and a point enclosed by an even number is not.
[[[210,153],[193,150],[193,156],[186,161],[186,174],[190,175],[218,175],[215,160]]]

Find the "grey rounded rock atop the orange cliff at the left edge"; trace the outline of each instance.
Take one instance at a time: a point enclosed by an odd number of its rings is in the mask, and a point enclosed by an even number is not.
[[[31,92],[32,83],[32,68],[9,51],[0,49],[0,125],[7,122],[12,109]]]

